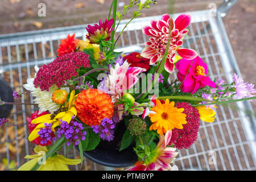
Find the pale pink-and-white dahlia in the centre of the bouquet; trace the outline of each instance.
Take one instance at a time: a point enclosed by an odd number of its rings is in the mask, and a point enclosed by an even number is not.
[[[110,68],[105,86],[108,86],[108,94],[112,95],[112,99],[118,98],[118,95],[122,96],[124,90],[136,84],[139,79],[137,75],[146,71],[144,68],[129,67],[129,65],[130,64],[125,61],[121,66],[117,63],[115,68]]]

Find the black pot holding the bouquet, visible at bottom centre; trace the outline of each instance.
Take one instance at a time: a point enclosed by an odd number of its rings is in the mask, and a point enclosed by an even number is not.
[[[125,123],[120,121],[115,127],[115,138],[108,142],[101,140],[94,150],[85,151],[84,156],[95,163],[108,167],[129,167],[137,162],[138,157],[133,151],[134,145],[125,150],[119,151],[123,133],[125,133]],[[78,147],[76,146],[78,149]]]

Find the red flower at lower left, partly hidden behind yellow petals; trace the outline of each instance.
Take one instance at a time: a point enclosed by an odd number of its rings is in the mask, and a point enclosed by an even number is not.
[[[38,117],[40,117],[42,115],[45,115],[45,114],[49,114],[49,113],[47,111],[44,111],[43,113],[38,114],[38,110],[36,110],[34,113],[32,113],[30,115],[30,117],[27,117],[28,130],[30,130],[30,133],[35,129],[36,126],[39,125],[39,123],[38,124],[32,124],[31,121],[33,119],[38,118]],[[55,138],[55,134],[53,132],[51,133],[51,138]],[[41,137],[38,137],[38,138],[32,140],[31,142],[35,143],[36,145],[40,145],[40,146],[48,146],[49,144],[52,143],[50,140],[47,140],[46,144],[42,144]]]

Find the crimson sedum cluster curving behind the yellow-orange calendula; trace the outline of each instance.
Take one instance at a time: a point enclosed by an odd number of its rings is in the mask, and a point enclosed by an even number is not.
[[[183,113],[187,115],[187,124],[183,125],[183,129],[173,129],[172,138],[168,144],[174,144],[175,148],[188,148],[197,138],[197,133],[200,126],[200,115],[195,107],[192,107],[188,102],[177,102],[177,108],[184,108]]]

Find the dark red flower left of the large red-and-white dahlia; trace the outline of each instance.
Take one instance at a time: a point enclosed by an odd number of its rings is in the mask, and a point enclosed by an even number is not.
[[[142,57],[138,52],[132,52],[129,55],[123,57],[123,60],[127,60],[130,67],[145,68],[146,71],[149,69],[150,59]]]

